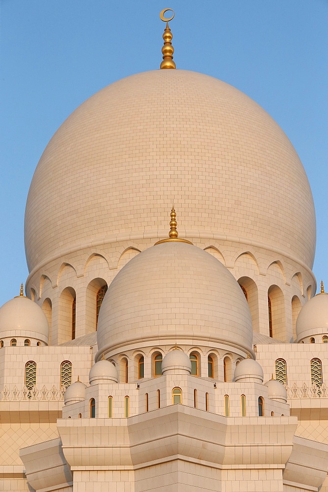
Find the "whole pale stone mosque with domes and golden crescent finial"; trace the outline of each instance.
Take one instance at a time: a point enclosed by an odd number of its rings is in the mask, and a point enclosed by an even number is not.
[[[176,69],[164,26],[161,69],[87,99],[36,167],[0,491],[328,492],[308,179],[257,103]]]

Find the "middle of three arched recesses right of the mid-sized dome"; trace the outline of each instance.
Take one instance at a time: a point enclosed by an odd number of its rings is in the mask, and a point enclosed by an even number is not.
[[[269,336],[285,340],[285,300],[282,290],[277,285],[272,285],[268,290],[268,318]]]

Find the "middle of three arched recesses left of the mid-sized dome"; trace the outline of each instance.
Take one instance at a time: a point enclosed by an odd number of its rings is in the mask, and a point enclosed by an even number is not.
[[[76,336],[76,293],[66,287],[59,297],[58,343],[74,340]]]

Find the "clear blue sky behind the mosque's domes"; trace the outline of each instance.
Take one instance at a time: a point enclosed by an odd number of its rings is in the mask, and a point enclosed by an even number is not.
[[[170,23],[177,68],[217,77],[286,132],[317,214],[314,273],[328,290],[327,0],[1,0],[0,305],[27,278],[24,211],[36,164],[87,97],[161,62]]]

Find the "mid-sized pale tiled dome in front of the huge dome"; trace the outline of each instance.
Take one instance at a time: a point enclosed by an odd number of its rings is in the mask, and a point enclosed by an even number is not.
[[[245,295],[225,266],[196,246],[167,242],[139,253],[111,282],[96,360],[172,340],[246,355],[252,339]]]

